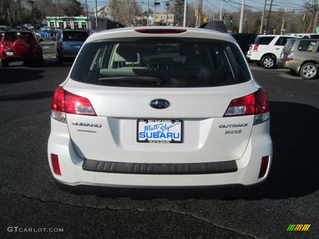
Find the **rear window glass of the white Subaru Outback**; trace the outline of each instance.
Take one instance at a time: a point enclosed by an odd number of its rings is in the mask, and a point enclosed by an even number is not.
[[[247,82],[249,69],[233,43],[196,39],[85,44],[73,80],[118,87],[212,87]]]

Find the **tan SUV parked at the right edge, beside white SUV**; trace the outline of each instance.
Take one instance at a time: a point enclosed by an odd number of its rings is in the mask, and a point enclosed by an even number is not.
[[[299,74],[303,79],[318,75],[319,39],[290,39],[282,49],[277,65]]]

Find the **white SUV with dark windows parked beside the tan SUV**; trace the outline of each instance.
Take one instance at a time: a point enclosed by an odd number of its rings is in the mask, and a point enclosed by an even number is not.
[[[256,62],[264,69],[273,69],[277,66],[276,61],[280,57],[281,50],[287,41],[297,36],[286,35],[258,35],[255,44],[250,45],[247,59]]]

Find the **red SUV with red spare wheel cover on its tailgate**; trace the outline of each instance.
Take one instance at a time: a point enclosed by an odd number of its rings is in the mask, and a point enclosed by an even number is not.
[[[4,67],[9,66],[9,62],[41,63],[42,46],[31,31],[6,31],[0,41],[0,57]]]

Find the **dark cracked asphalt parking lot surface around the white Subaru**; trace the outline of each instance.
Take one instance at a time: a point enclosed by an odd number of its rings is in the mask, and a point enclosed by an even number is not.
[[[69,70],[70,64],[58,64],[56,59],[46,59],[41,68],[0,67],[1,238],[318,237],[317,140],[293,123],[318,130],[318,82],[280,78],[283,69],[254,71],[271,98],[274,141],[271,175],[255,197],[110,199],[63,192],[49,170],[51,99]],[[300,116],[305,110],[313,118]],[[294,117],[293,122],[287,115]],[[305,232],[287,232],[290,224],[311,226]],[[8,231],[9,227],[18,231]],[[19,232],[28,228],[37,231]]]

